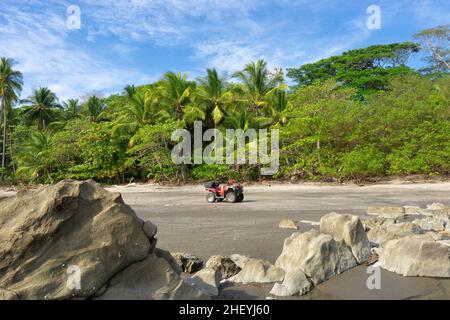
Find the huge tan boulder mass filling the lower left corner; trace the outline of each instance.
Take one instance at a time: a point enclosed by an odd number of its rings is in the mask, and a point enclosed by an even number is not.
[[[154,249],[156,226],[93,181],[0,200],[0,230],[0,299],[208,298]]]

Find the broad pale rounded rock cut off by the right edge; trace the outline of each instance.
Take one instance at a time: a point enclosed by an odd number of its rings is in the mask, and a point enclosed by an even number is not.
[[[450,277],[448,248],[417,236],[388,241],[378,265],[403,276]]]

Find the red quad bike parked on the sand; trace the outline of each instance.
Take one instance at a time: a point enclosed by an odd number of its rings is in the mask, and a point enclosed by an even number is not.
[[[239,183],[233,183],[229,180],[228,183],[220,183],[219,181],[210,181],[204,184],[205,190],[208,192],[206,201],[208,203],[220,202],[242,202],[244,200],[244,187]]]

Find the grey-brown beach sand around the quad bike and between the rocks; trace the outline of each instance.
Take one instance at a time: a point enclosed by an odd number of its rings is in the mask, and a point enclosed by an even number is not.
[[[201,185],[110,187],[143,219],[158,225],[158,247],[172,252],[245,254],[274,262],[283,241],[295,230],[279,229],[281,219],[319,221],[331,211],[367,218],[368,206],[450,205],[450,183],[356,185],[263,185],[245,188],[242,203],[208,204]],[[299,232],[317,228],[300,224]],[[381,289],[366,286],[367,267],[359,266],[320,285],[300,299],[450,299],[450,280],[402,277],[381,271]],[[231,285],[220,298],[264,299],[272,285]]]

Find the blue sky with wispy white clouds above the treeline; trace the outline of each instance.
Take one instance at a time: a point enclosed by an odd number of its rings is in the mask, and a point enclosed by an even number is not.
[[[80,30],[67,28],[70,5],[81,10]],[[379,30],[366,27],[370,5],[381,9]],[[230,74],[258,58],[297,67],[447,23],[444,0],[0,0],[0,56],[18,62],[22,97],[48,86],[65,100],[169,70]]]

